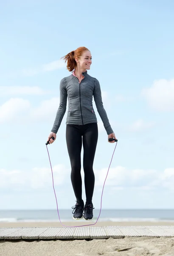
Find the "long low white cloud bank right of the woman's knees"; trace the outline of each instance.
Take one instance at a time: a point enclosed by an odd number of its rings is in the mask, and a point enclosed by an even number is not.
[[[95,185],[103,186],[107,175],[107,168],[95,170]],[[105,186],[112,189],[142,189],[152,190],[157,187],[174,191],[174,168],[159,172],[154,169],[126,169],[123,166],[110,168]]]

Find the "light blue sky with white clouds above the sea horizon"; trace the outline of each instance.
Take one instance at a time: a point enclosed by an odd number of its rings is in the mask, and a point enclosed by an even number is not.
[[[59,108],[60,58],[90,49],[118,139],[97,112],[93,205],[174,209],[174,2],[6,0],[0,8],[0,209],[56,209],[46,148]],[[59,209],[75,205],[65,140],[67,110],[48,145]],[[81,161],[83,148],[81,151]],[[84,174],[81,169],[83,199]]]

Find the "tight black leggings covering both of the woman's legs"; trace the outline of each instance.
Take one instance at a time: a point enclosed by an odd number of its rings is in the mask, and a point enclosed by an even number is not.
[[[84,185],[87,203],[92,202],[95,176],[93,172],[93,161],[98,140],[98,125],[90,123],[87,125],[67,125],[66,141],[67,150],[71,163],[71,182],[73,185],[76,201],[82,201],[81,180],[81,146],[83,142],[83,169]]]

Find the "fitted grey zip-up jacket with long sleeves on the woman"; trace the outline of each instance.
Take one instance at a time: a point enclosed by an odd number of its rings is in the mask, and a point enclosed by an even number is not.
[[[53,124],[52,132],[57,133],[62,119],[66,112],[67,98],[67,124],[86,125],[88,123],[97,122],[93,109],[93,96],[97,111],[104,124],[107,134],[113,133],[112,128],[107,118],[107,113],[104,110],[101,89],[99,81],[86,72],[83,72],[84,79],[79,83],[76,76],[70,75],[60,81],[60,104],[56,113],[56,119]]]

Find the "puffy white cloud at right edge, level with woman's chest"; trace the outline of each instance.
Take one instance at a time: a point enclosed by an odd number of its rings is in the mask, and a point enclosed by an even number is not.
[[[174,111],[174,79],[155,80],[150,88],[141,91],[141,95],[156,111]]]

